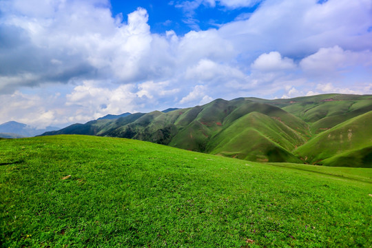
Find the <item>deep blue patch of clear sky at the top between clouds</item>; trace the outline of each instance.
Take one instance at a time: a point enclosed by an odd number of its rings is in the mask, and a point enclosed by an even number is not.
[[[145,8],[149,14],[147,23],[152,32],[161,34],[167,30],[174,30],[176,34],[184,35],[192,30],[218,28],[224,23],[247,18],[248,14],[254,12],[259,6],[259,3],[252,3],[238,8],[228,8],[218,3],[216,6],[211,6],[208,1],[200,1],[198,8],[190,10],[190,7],[183,6],[185,2],[187,1],[139,0],[128,2],[115,0],[111,1],[111,10],[112,16],[115,17],[117,14],[133,12],[138,7]]]

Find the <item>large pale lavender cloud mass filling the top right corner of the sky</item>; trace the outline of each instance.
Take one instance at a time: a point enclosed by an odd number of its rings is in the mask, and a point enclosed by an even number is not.
[[[371,50],[371,1],[263,1],[249,19],[223,25],[247,60],[267,51],[283,56],[307,56],[319,48],[339,45],[346,50]]]

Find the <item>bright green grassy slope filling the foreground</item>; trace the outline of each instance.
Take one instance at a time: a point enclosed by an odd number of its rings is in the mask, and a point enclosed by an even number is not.
[[[371,247],[369,194],[368,176],[142,141],[0,141],[3,247]]]

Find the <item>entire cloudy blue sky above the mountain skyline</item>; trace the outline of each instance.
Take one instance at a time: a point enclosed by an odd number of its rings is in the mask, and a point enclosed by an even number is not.
[[[0,0],[0,123],[372,94],[371,0]]]

